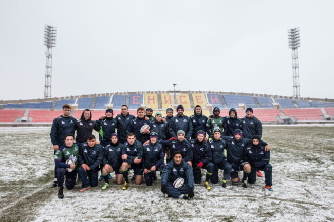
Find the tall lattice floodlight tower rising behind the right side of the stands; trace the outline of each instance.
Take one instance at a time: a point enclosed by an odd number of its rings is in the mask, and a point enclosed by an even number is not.
[[[292,73],[293,73],[293,97],[300,97],[299,91],[299,70],[298,70],[298,47],[299,42],[299,28],[289,29],[289,48],[292,49]]]

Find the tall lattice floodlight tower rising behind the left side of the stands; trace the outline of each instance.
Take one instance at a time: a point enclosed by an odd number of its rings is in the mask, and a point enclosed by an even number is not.
[[[46,65],[45,65],[45,85],[44,98],[51,98],[51,77],[52,77],[52,47],[55,47],[55,36],[57,28],[45,25],[44,45],[46,46]]]

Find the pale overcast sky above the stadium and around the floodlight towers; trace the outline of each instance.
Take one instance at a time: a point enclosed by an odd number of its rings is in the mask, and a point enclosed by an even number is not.
[[[0,99],[44,98],[44,24],[57,27],[52,97],[177,90],[334,98],[334,1],[0,0]]]

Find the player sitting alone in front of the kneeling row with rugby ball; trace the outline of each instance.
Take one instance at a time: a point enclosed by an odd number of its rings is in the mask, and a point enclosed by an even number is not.
[[[173,183],[177,178],[184,179],[183,187],[176,189]],[[194,176],[191,166],[182,159],[181,152],[175,151],[173,160],[162,170],[161,191],[173,198],[192,199],[194,197]]]

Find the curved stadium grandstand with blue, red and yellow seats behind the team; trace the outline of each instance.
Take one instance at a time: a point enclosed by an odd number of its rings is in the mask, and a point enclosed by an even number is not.
[[[230,108],[237,110],[239,118],[245,116],[247,107],[264,124],[334,123],[334,99],[293,98],[287,96],[202,91],[154,91],[122,92],[94,95],[67,96],[51,99],[0,101],[0,125],[30,126],[51,125],[52,120],[62,114],[62,106],[72,106],[71,116],[79,119],[84,109],[90,109],[92,119],[104,116],[105,109],[113,108],[114,117],[126,104],[130,114],[142,106],[152,108],[153,114],[160,111],[165,115],[168,107],[174,109],[182,104],[184,114],[194,114],[200,105],[204,115],[212,115],[215,107],[220,116],[228,116]]]

